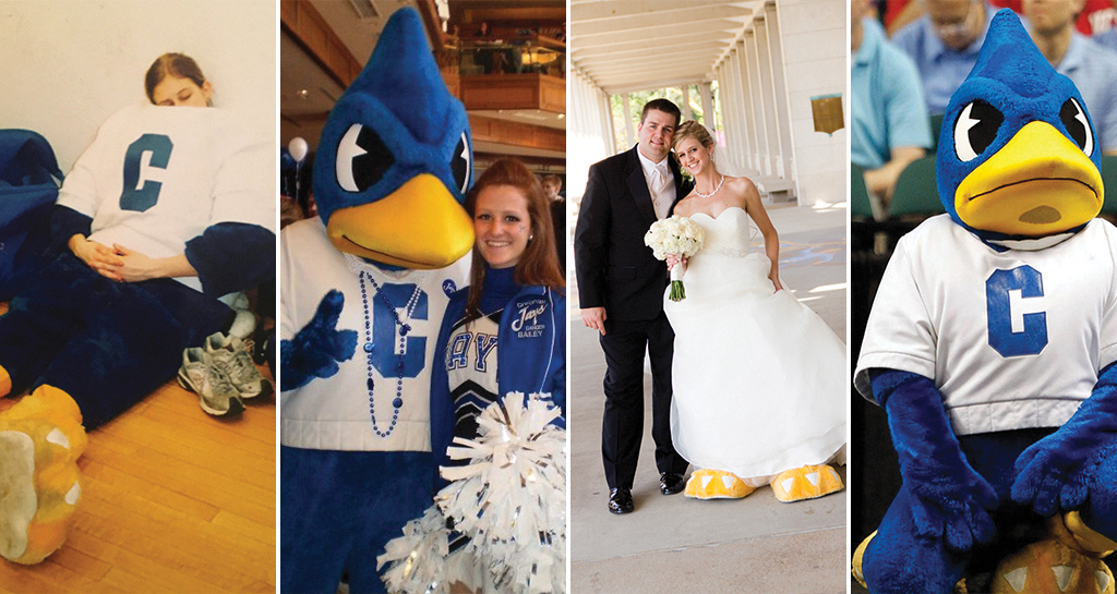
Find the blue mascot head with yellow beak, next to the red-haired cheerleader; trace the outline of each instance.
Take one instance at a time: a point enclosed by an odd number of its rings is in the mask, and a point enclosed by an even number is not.
[[[314,193],[326,233],[379,264],[446,267],[474,243],[461,207],[471,183],[466,109],[442,83],[419,15],[402,8],[322,131]]]

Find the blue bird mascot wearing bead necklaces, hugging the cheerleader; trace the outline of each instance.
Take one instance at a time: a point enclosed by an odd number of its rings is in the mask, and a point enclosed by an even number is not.
[[[435,341],[474,242],[468,126],[398,10],[322,132],[321,219],[281,233],[281,592],[383,591],[376,556],[431,505]]]

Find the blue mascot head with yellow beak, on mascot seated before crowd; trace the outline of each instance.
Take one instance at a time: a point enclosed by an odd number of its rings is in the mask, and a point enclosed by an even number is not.
[[[986,240],[1069,237],[1101,210],[1100,155],[1078,88],[999,11],[943,117],[946,212]]]

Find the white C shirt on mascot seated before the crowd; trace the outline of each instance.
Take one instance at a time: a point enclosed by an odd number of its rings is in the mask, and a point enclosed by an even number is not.
[[[1117,360],[1117,229],[1095,219],[1047,249],[996,251],[946,214],[900,239],[855,383],[934,380],[955,433],[1059,427]]]

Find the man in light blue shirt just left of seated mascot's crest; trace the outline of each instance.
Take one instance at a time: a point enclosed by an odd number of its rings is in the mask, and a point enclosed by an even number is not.
[[[994,11],[982,0],[917,1],[924,16],[896,31],[892,44],[915,63],[927,111],[938,115],[977,61]]]

